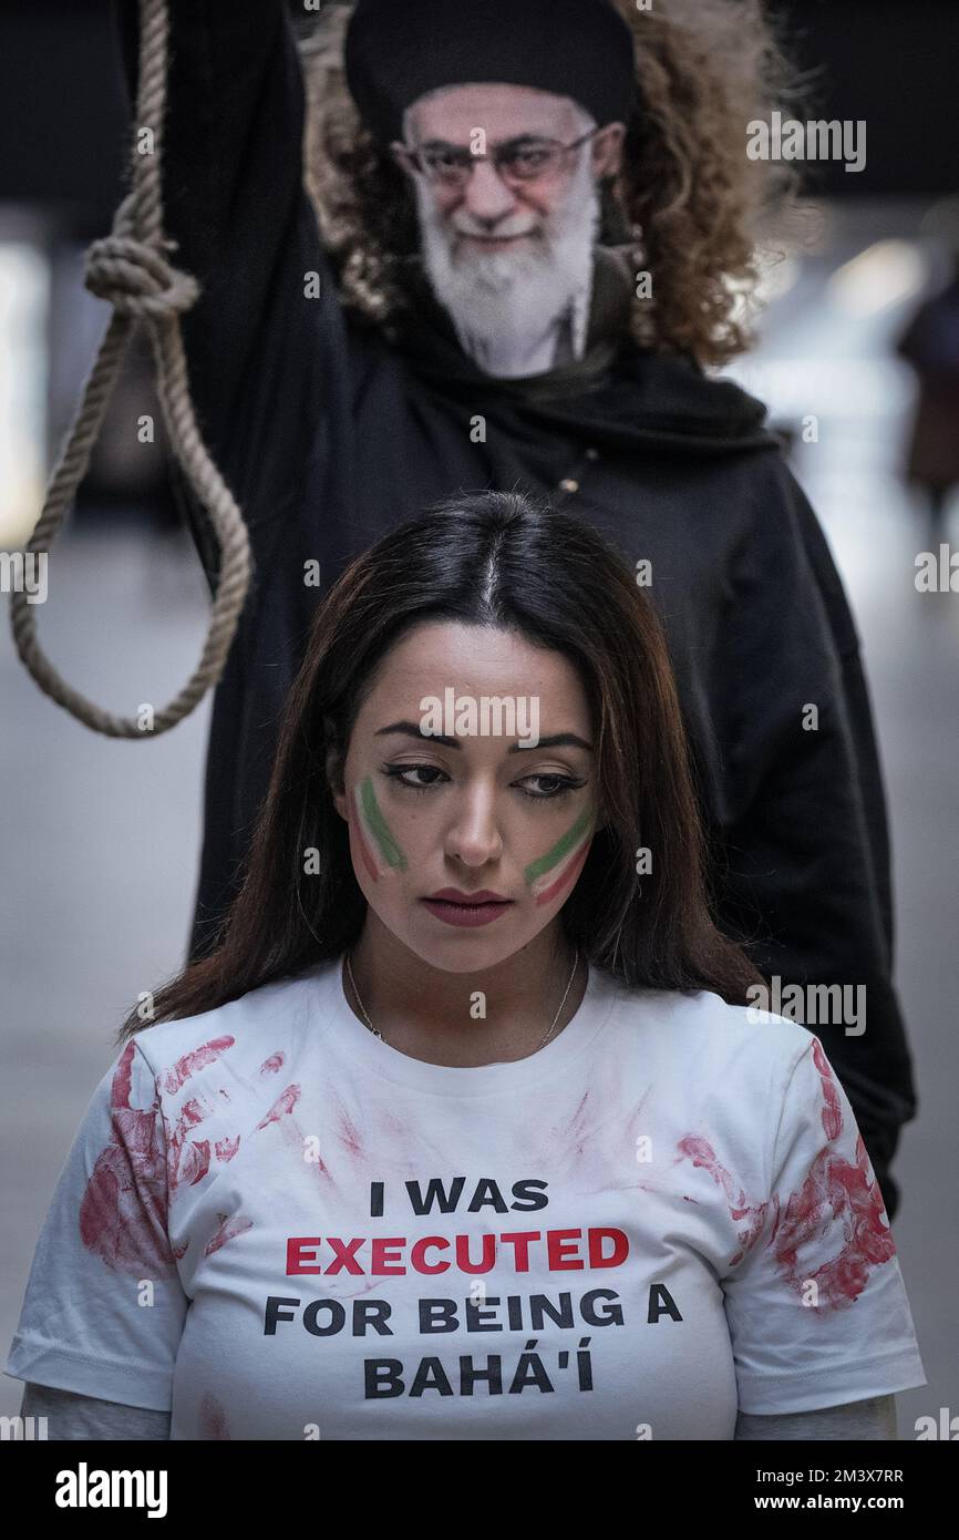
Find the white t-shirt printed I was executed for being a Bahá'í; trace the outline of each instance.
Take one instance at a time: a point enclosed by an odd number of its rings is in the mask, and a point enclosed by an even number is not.
[[[453,1069],[340,962],[117,1055],[6,1374],[171,1438],[722,1440],[927,1383],[805,1027],[591,970],[546,1047]]]

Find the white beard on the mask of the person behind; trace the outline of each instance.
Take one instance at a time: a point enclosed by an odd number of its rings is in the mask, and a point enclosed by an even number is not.
[[[580,146],[566,197],[545,219],[517,209],[497,236],[530,229],[536,234],[516,251],[483,251],[460,245],[436,208],[423,177],[414,177],[423,265],[437,300],[456,326],[463,353],[499,377],[537,374],[563,360],[580,359],[586,345],[593,294],[594,245],[600,202],[588,145]],[[454,216],[469,231],[462,209]],[[490,234],[476,229],[473,234]],[[560,359],[557,360],[557,351]]]

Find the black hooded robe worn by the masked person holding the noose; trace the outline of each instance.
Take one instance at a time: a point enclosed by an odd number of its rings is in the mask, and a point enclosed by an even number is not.
[[[135,100],[137,5],[114,9]],[[605,354],[600,337],[590,368],[491,379],[428,299],[403,340],[386,340],[340,303],[303,191],[302,66],[283,5],[169,9],[165,225],[174,263],[202,285],[183,317],[192,399],[256,564],[214,701],[191,959],[236,893],[320,594],[386,528],[457,490],[551,494],[633,567],[651,562],[719,853],[719,924],[784,990],[865,986],[862,1035],[810,1029],[891,1218],[888,1164],[916,1092],[891,979],[885,795],[854,622],[764,405],[625,336]],[[209,521],[185,485],[179,496],[216,588]],[[303,582],[309,561],[320,588]],[[816,732],[800,725],[810,702]]]

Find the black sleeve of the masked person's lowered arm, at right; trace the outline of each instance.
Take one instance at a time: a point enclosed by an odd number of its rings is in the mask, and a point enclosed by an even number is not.
[[[834,984],[865,999],[862,1032],[834,1018],[805,1024],[844,1084],[893,1218],[888,1163],[916,1090],[893,984],[885,793],[842,582],[780,456],[760,477],[717,668],[727,787],[719,918],[782,990]],[[808,707],[816,728],[804,728]]]

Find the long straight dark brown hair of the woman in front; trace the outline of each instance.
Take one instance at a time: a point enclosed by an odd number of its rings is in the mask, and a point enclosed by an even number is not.
[[[363,926],[334,779],[373,675],[411,627],[511,630],[562,653],[596,733],[599,829],[560,910],[586,959],[630,987],[713,990],[747,1004],[762,975],[713,922],[705,839],[662,625],[622,557],[590,525],[520,493],[449,499],[400,524],[323,599],[280,722],[243,886],[217,947],[159,989],[143,1026],[212,1010],[340,956]],[[653,870],[636,875],[640,847]]]

